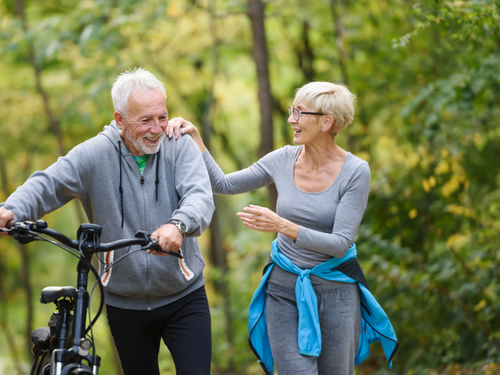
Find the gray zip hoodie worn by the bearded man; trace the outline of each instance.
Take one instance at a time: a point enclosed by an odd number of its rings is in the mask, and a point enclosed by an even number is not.
[[[209,225],[214,204],[205,164],[191,137],[165,136],[141,176],[113,121],[45,171],[35,172],[0,207],[12,211],[16,221],[37,220],[74,198],[82,202],[89,222],[102,226],[101,242],[133,238],[138,230],[152,233],[171,218],[187,226],[182,261],[138,251],[110,268],[102,276],[107,304],[150,310],[205,284],[205,263],[194,237]],[[99,257],[110,263],[137,248]]]

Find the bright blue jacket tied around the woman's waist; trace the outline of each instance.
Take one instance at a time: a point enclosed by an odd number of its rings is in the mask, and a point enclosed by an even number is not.
[[[326,280],[358,283],[361,302],[361,334],[355,364],[357,365],[368,357],[371,343],[380,341],[389,368],[392,367],[392,357],[399,347],[396,334],[386,313],[368,289],[357,261],[355,244],[351,244],[344,257],[333,258],[313,269],[303,270],[280,253],[278,240],[274,240],[271,259],[273,263],[265,269],[260,285],[253,295],[248,312],[250,347],[266,374],[273,374],[274,371],[274,360],[267,335],[266,289],[267,279],[275,264],[285,271],[299,275],[295,285],[295,297],[299,312],[298,345],[300,354],[319,357],[321,353],[318,301],[309,279],[309,275],[313,274]]]

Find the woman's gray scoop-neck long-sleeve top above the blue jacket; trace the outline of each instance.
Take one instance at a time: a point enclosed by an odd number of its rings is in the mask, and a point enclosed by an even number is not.
[[[370,190],[368,163],[349,153],[335,182],[309,193],[294,182],[295,162],[303,146],[285,146],[257,163],[225,175],[208,151],[203,160],[215,194],[239,194],[275,183],[277,214],[299,225],[294,242],[278,233],[281,252],[301,268],[313,268],[349,249],[363,217]]]

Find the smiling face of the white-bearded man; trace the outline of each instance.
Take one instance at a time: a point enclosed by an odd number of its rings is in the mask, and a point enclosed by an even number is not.
[[[159,90],[134,91],[128,100],[128,118],[115,112],[122,139],[135,156],[158,152],[168,125],[167,99]]]

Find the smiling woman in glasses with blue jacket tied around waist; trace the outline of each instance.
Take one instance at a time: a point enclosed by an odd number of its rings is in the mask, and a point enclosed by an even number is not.
[[[351,244],[366,208],[370,169],[335,139],[352,122],[354,101],[344,86],[306,84],[289,107],[296,146],[228,175],[195,126],[176,118],[167,128],[170,137],[179,130],[193,137],[214,193],[276,184],[276,213],[250,205],[237,214],[250,229],[278,233],[249,312],[250,345],[267,374],[273,373],[273,360],[280,375],[352,374],[371,342],[382,341],[389,366],[397,350],[392,326],[369,293]]]

